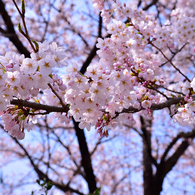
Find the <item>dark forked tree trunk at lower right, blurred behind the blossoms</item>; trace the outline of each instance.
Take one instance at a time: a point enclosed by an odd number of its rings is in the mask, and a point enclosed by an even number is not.
[[[144,195],[160,195],[162,191],[163,181],[166,175],[177,164],[179,158],[184,154],[189,146],[188,138],[195,137],[195,130],[188,133],[179,133],[171,143],[165,149],[164,154],[161,157],[161,161],[158,164],[152,156],[151,149],[151,132],[147,127],[151,127],[151,121],[140,117],[142,139],[143,139],[143,187]],[[175,152],[167,157],[168,152],[177,143],[177,141],[183,138],[184,140],[179,144]],[[166,159],[167,158],[167,159]],[[156,167],[156,172],[152,169],[152,165]]]

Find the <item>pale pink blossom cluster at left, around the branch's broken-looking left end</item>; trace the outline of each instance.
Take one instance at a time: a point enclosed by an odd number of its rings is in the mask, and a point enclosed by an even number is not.
[[[30,58],[18,55],[14,52],[7,52],[0,56],[0,110],[5,130],[18,139],[24,138],[24,129],[27,128],[29,120],[32,120],[30,113],[36,110],[10,106],[12,99],[36,99],[40,90],[48,88],[48,83],[65,90],[62,82],[58,82],[54,67],[66,65],[64,49],[58,47],[54,42],[39,43],[39,52],[31,53]]]

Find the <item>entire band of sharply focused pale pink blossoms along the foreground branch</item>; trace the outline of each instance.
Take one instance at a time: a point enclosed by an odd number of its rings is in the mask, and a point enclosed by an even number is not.
[[[150,117],[153,104],[182,95],[185,99],[175,107],[175,121],[194,125],[195,80],[191,82],[177,67],[180,64],[169,59],[180,45],[193,43],[195,16],[173,10],[170,23],[160,26],[153,15],[126,4],[113,3],[111,10],[104,10],[104,1],[94,0],[94,6],[102,11],[109,37],[98,38],[100,60],[85,75],[76,62],[67,66],[65,50],[56,43],[39,43],[39,51],[30,58],[13,52],[0,57],[0,110],[5,130],[22,139],[28,122],[38,114],[37,110],[10,106],[13,98],[54,106],[63,102],[69,110],[56,114],[60,121],[69,122],[72,116],[80,128],[95,126],[101,136],[108,136],[109,128],[135,124],[129,108],[143,110],[140,114]],[[111,19],[112,14],[127,20]],[[54,74],[53,69],[61,66],[67,66],[66,74]],[[173,87],[169,69],[187,81]]]

